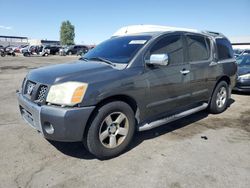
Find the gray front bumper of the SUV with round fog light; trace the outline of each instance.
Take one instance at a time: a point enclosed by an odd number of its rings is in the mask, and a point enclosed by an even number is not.
[[[95,108],[39,106],[26,99],[20,92],[17,92],[17,98],[23,119],[46,139],[55,141],[82,141],[87,121]]]

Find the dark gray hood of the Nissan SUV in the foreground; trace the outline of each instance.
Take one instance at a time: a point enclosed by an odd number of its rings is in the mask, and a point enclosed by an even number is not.
[[[118,72],[121,70],[98,61],[75,61],[34,69],[29,72],[27,79],[48,85],[66,81],[91,83],[111,78]]]

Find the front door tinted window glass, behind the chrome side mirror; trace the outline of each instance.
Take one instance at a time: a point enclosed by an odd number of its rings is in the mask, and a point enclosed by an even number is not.
[[[159,40],[150,54],[168,54],[169,64],[183,63],[183,44],[180,35],[167,36]]]

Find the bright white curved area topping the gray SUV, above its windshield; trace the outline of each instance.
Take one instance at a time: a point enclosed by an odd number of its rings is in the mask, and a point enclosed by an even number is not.
[[[178,28],[160,25],[130,25],[120,28],[112,36],[123,36],[129,34],[146,33],[146,32],[164,32],[164,31],[188,31],[199,32],[196,29]]]

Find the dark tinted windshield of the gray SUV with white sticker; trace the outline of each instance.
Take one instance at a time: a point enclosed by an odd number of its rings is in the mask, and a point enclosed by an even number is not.
[[[150,36],[124,36],[111,38],[90,50],[86,59],[103,58],[113,63],[127,64],[146,44]]]

